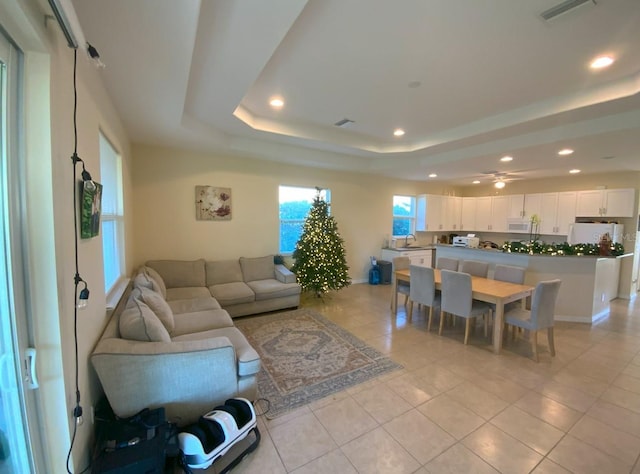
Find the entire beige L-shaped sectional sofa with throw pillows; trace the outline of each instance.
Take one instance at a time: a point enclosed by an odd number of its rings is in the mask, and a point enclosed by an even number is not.
[[[231,316],[299,301],[295,275],[273,256],[149,261],[91,362],[116,415],[163,406],[170,421],[192,423],[227,398],[256,398],[260,357]]]

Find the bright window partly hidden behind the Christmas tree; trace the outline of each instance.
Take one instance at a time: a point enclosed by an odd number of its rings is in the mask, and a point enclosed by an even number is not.
[[[295,250],[316,195],[316,188],[280,186],[280,253],[290,254]],[[323,189],[320,197],[328,203],[331,192]]]

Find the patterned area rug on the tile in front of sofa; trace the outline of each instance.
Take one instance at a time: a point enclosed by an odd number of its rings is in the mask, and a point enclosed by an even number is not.
[[[402,368],[321,314],[297,309],[234,321],[260,354],[267,418]]]

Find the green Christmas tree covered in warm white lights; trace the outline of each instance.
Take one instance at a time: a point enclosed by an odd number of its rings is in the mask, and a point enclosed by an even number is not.
[[[316,189],[318,193],[293,252],[295,263],[291,270],[304,291],[314,291],[316,296],[321,296],[329,290],[349,286],[351,280],[338,224],[329,215],[329,204],[320,197],[321,189]]]

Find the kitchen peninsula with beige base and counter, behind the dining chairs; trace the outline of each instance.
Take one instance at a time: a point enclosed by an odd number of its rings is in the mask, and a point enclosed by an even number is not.
[[[632,258],[633,254],[619,257],[529,255],[439,244],[437,256],[488,262],[490,278],[496,265],[524,267],[527,269],[525,284],[531,286],[560,278],[556,321],[593,323],[609,313],[609,302],[618,297],[622,261]]]

